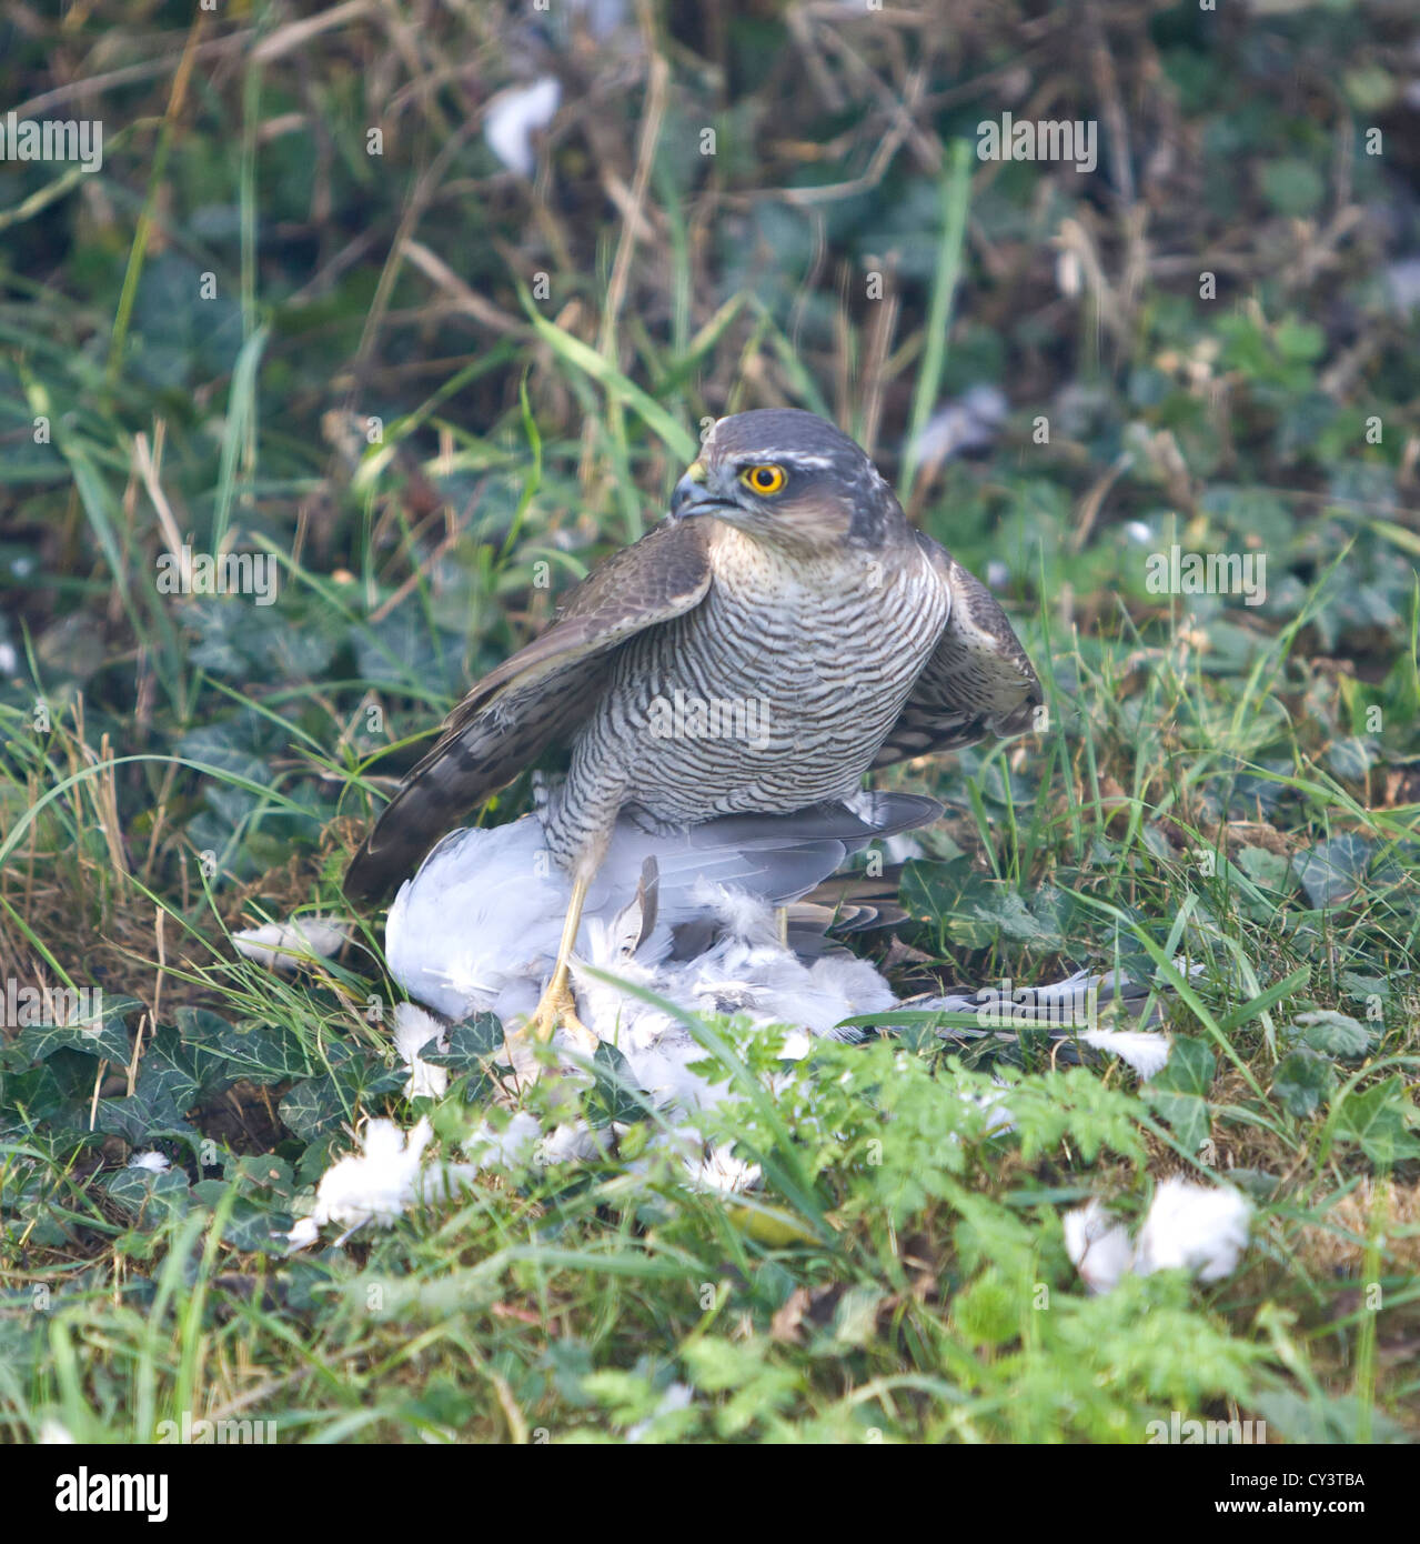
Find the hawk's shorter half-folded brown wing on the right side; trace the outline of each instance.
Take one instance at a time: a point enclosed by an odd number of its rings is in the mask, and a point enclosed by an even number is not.
[[[875,767],[1020,735],[1043,701],[1036,670],[991,591],[921,531],[951,607],[942,638],[874,758]]]

